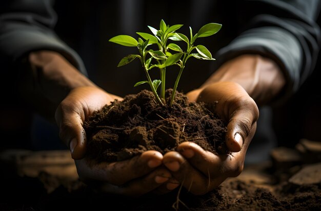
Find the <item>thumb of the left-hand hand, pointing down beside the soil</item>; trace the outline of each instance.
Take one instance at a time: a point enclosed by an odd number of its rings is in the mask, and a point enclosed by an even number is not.
[[[83,128],[82,112],[73,110],[63,101],[56,109],[55,119],[59,137],[69,147],[73,159],[82,159],[86,154],[86,132]]]

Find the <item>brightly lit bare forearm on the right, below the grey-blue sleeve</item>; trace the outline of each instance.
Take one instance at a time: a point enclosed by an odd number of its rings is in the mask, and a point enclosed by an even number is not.
[[[195,96],[209,84],[220,81],[238,83],[258,105],[275,100],[286,84],[283,72],[273,60],[245,54],[220,66],[199,89],[195,90]]]

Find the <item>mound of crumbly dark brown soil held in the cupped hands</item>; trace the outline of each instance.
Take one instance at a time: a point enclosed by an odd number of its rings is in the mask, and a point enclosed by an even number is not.
[[[166,90],[169,102],[172,89]],[[227,128],[204,103],[188,102],[176,92],[175,103],[159,106],[149,90],[128,95],[95,112],[84,128],[88,155],[100,161],[119,161],[147,150],[162,154],[182,142],[198,144],[214,154],[229,153],[225,145]]]

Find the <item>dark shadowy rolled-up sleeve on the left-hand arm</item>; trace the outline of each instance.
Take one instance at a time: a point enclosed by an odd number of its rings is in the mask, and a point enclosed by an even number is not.
[[[0,7],[0,60],[16,62],[36,50],[61,53],[79,71],[86,69],[79,55],[54,33],[57,16],[51,0],[6,0]]]

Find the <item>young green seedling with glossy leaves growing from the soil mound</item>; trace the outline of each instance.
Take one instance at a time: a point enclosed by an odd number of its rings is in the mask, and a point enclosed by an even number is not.
[[[166,68],[172,65],[179,66],[179,72],[173,86],[172,95],[169,102],[169,107],[173,105],[173,101],[175,98],[175,92],[177,89],[177,85],[182,76],[183,70],[185,68],[186,62],[190,57],[194,57],[196,59],[202,60],[215,60],[212,58],[212,54],[204,45],[196,45],[194,46],[194,42],[197,38],[200,37],[208,37],[215,33],[217,33],[222,25],[209,23],[201,27],[196,34],[193,35],[192,28],[190,27],[190,38],[182,33],[176,32],[183,25],[173,25],[169,26],[165,24],[165,21],[160,20],[159,30],[148,26],[152,34],[144,33],[144,32],[136,32],[142,38],[138,38],[137,40],[129,35],[117,35],[109,39],[109,41],[121,44],[124,46],[136,47],[138,49],[139,54],[130,54],[125,56],[119,63],[119,66],[123,66],[125,64],[130,63],[135,58],[141,60],[143,69],[145,71],[147,81],[139,81],[134,86],[138,86],[144,83],[149,84],[156,101],[159,105],[163,106],[166,102],[165,99],[165,81],[166,81]],[[169,40],[172,41],[184,41],[187,43],[187,48],[184,51],[180,46],[176,43],[168,43]],[[156,44],[157,49],[152,50],[148,49],[150,45]],[[195,53],[192,53],[193,50],[196,50]],[[149,71],[152,68],[158,68],[160,73],[160,79],[151,80],[149,76]],[[157,93],[157,88],[160,87],[160,97]]]

